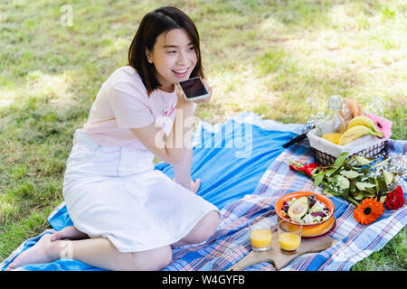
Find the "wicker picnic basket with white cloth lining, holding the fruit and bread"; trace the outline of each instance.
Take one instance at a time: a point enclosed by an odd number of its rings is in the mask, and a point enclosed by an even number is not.
[[[333,144],[323,139],[317,135],[317,129],[309,131],[307,136],[317,163],[324,166],[335,163],[337,156],[345,152],[349,152],[349,156],[363,155],[368,158],[387,154],[388,141],[378,139],[372,135],[364,135],[346,145]]]

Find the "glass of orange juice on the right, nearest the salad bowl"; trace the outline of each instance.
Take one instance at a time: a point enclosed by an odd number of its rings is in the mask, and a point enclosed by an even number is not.
[[[288,221],[281,219],[278,226],[279,248],[282,253],[295,254],[301,245],[302,225],[293,225]]]

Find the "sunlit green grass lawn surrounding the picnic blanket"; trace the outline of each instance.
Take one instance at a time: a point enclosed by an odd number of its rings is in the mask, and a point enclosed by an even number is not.
[[[73,25],[61,24],[71,5]],[[209,122],[253,111],[303,123],[333,94],[356,98],[407,139],[407,5],[402,1],[3,1],[0,4],[0,259],[49,228],[73,132],[127,62],[142,16],[176,5],[202,39]],[[405,228],[352,270],[405,270]]]

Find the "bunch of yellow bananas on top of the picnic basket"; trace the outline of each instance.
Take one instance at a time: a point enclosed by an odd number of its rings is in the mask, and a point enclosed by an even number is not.
[[[369,117],[359,116],[351,119],[345,133],[339,139],[339,145],[349,144],[363,135],[374,135],[382,138],[383,132],[379,131]]]

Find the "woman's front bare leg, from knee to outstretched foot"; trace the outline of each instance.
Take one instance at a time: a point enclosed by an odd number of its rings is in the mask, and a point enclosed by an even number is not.
[[[60,258],[71,258],[90,266],[108,270],[137,271],[160,270],[171,262],[171,247],[122,253],[108,238],[51,241],[52,235],[44,235],[37,244],[14,259],[9,270],[36,263],[49,263]]]

